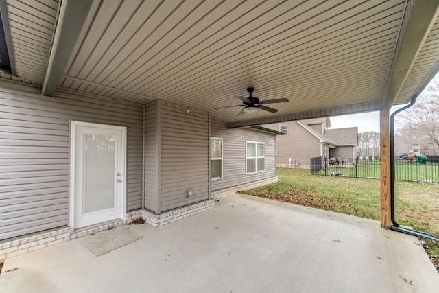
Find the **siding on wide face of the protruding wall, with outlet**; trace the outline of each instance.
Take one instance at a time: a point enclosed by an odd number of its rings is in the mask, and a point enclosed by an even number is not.
[[[161,104],[161,211],[209,198],[209,133],[205,113]],[[185,190],[193,195],[185,198]]]

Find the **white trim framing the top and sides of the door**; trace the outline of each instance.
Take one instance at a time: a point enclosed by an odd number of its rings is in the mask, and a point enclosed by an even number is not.
[[[71,121],[70,123],[70,145],[69,145],[69,154],[70,154],[70,176],[69,176],[69,226],[73,230],[75,227],[75,136],[76,136],[76,128],[77,126],[86,126],[93,128],[104,128],[104,129],[117,129],[121,130],[122,133],[122,143],[121,143],[121,164],[122,164],[122,174],[121,174],[121,215],[120,218],[122,220],[126,220],[126,127],[124,126],[113,126],[108,124],[95,124],[81,121]]]

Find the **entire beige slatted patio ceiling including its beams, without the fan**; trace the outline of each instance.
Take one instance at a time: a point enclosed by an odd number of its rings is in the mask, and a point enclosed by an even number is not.
[[[404,104],[439,60],[439,1],[5,2],[14,73],[43,94],[161,99],[229,126]],[[215,109],[249,86],[289,102]]]

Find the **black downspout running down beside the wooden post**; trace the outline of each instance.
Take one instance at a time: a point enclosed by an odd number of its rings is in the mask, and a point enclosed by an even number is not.
[[[396,110],[392,115],[390,115],[390,220],[392,221],[392,226],[390,230],[398,231],[401,233],[417,236],[426,237],[434,241],[438,241],[434,235],[425,233],[422,231],[416,231],[409,228],[400,227],[395,220],[395,116],[401,111],[410,108],[416,102],[418,95],[414,95],[410,104],[404,106],[401,109]]]

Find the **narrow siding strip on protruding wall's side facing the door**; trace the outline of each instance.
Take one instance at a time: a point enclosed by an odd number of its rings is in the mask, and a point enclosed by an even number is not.
[[[146,104],[145,110],[145,208],[158,213],[158,194],[160,167],[158,161],[158,143],[160,132],[157,131],[157,103]]]

